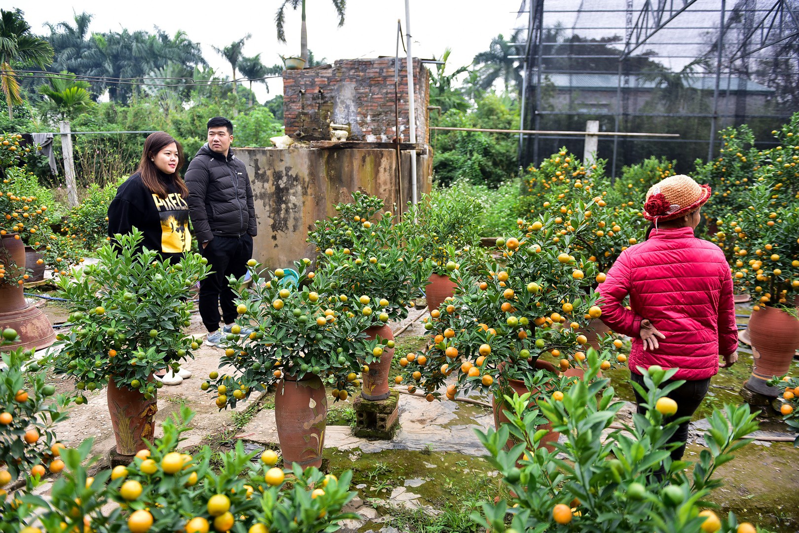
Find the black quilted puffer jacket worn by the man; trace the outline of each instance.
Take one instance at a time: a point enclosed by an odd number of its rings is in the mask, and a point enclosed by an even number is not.
[[[228,151],[227,157],[205,144],[186,170],[189,216],[197,241],[214,235],[240,237],[258,233],[247,168]]]

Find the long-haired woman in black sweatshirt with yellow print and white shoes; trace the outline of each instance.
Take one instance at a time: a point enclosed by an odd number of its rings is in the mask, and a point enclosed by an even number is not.
[[[185,163],[183,147],[169,133],[151,133],[145,141],[144,153],[135,173],[117,189],[117,196],[108,208],[108,234],[114,241],[117,233],[144,234],[138,245],[155,250],[162,260],[177,263],[192,248],[189,233],[189,190],[181,178]],[[168,385],[180,384],[191,372],[156,375]]]

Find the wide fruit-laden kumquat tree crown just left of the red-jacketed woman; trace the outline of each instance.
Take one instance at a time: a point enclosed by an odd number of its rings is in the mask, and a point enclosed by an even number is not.
[[[556,379],[559,370],[582,367],[588,340],[579,330],[601,315],[597,294],[586,290],[596,265],[574,251],[589,225],[588,208],[580,204],[570,214],[570,229],[560,229],[544,214],[525,223],[533,227],[530,233],[498,239],[503,264],[487,265],[486,276],[464,274],[455,296],[425,323],[427,350],[400,360],[409,391],[420,388],[430,401],[441,396],[443,386],[450,399],[462,391],[490,392],[499,426],[504,398],[512,391],[532,391],[532,400],[567,383]],[[544,354],[554,357],[555,365],[540,359]],[[626,357],[619,354],[618,360]],[[602,368],[610,365],[602,361]],[[456,379],[450,383],[451,372]]]

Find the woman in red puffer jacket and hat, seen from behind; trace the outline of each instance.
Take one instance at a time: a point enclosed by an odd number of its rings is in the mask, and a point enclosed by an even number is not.
[[[733,280],[718,246],[694,237],[699,211],[710,187],[688,176],[671,176],[646,193],[644,217],[653,226],[645,242],[624,250],[597,289],[602,322],[633,339],[630,378],[643,385],[642,371],[652,365],[677,368],[673,380],[685,380],[668,396],[677,402],[674,415],[693,416],[719,368],[737,360]],[[630,296],[630,308],[622,301]],[[668,383],[663,384],[665,386]],[[638,412],[646,401],[635,391]],[[670,442],[686,450],[688,423],[680,424]]]

